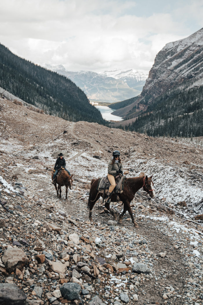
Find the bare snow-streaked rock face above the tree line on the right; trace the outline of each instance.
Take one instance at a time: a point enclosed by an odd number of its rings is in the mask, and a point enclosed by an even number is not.
[[[171,88],[203,84],[203,28],[187,38],[167,43],[157,54],[143,87],[153,97]]]

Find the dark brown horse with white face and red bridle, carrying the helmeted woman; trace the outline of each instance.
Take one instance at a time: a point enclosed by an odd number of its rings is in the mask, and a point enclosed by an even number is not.
[[[88,209],[90,210],[89,213],[89,218],[90,221],[92,222],[92,209],[93,206],[95,205],[95,202],[99,199],[100,196],[102,196],[102,193],[97,191],[97,185],[98,185],[98,179],[92,179],[91,181],[91,187],[90,187],[90,192],[89,192],[89,199],[88,199]],[[128,213],[131,216],[132,223],[134,224],[135,227],[138,227],[138,224],[135,222],[132,210],[130,207],[130,203],[132,199],[135,196],[135,193],[143,187],[143,190],[146,191],[150,197],[155,196],[155,192],[153,189],[153,181],[152,181],[152,176],[148,178],[147,176],[143,177],[134,177],[134,178],[126,178],[125,183],[124,183],[124,188],[122,194],[117,194],[120,198],[120,201],[123,202],[123,212],[119,216],[119,224],[122,224],[122,217],[128,210]],[[116,195],[112,194],[111,197],[112,202],[116,202]],[[117,220],[115,211],[110,208],[109,203],[105,203],[105,207],[109,212],[112,214],[114,220]]]

